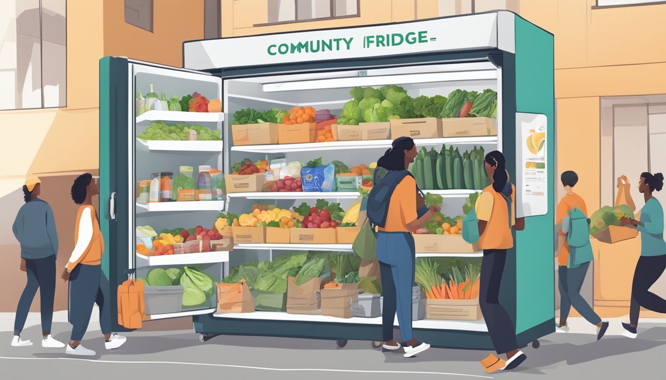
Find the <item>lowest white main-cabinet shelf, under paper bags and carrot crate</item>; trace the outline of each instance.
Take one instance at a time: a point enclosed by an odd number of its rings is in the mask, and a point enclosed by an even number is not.
[[[376,318],[338,318],[328,315],[289,314],[279,311],[254,311],[252,313],[214,313],[213,317],[226,319],[251,319],[264,321],[302,321],[320,323],[358,323],[366,325],[381,325],[382,317]],[[398,319],[394,321],[398,325]],[[486,321],[453,321],[449,319],[422,319],[413,321],[415,329],[458,330],[458,331],[488,331]]]

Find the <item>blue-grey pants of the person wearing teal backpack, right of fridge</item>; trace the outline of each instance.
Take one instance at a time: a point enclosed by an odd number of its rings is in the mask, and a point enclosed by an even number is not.
[[[566,321],[571,311],[571,305],[593,325],[601,322],[601,317],[585,301],[581,295],[581,288],[585,282],[585,275],[589,269],[589,263],[581,264],[577,268],[559,266],[557,275],[559,277],[559,319]]]

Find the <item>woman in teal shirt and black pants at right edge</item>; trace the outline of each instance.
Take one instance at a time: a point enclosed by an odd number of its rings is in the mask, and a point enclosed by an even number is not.
[[[631,305],[629,323],[622,323],[623,335],[635,338],[641,307],[666,313],[666,299],[649,291],[664,270],[666,270],[666,242],[664,242],[664,210],[657,198],[652,196],[661,191],[664,176],[661,173],[643,173],[638,190],[645,196],[645,206],[641,209],[641,220],[621,218],[623,226],[635,226],[641,232],[641,257],[636,264],[631,284]]]

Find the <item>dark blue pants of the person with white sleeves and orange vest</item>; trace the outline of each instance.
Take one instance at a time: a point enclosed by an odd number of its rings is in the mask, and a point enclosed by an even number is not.
[[[99,306],[102,333],[111,333],[111,315],[106,310],[109,302],[100,286],[101,278],[102,266],[83,264],[75,266],[69,275],[69,323],[72,324],[73,341],[83,339],[95,303]]]

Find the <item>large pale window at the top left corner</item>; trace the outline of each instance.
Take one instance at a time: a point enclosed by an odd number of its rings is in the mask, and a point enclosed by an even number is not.
[[[0,110],[66,106],[65,0],[0,6]]]

